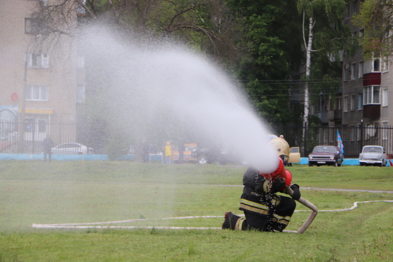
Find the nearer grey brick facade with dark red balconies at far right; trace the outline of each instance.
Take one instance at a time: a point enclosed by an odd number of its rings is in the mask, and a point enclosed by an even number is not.
[[[359,13],[362,1],[350,1],[344,23],[352,29],[353,36],[362,38],[364,29],[352,24],[352,16]],[[366,128],[367,136],[377,135],[380,127],[393,124],[393,71],[389,57],[373,56],[365,59],[363,48],[354,57],[344,57],[342,66],[342,125]],[[383,132],[379,139],[387,139]]]

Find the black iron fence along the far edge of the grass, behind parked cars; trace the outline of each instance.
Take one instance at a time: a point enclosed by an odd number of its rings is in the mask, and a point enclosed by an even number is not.
[[[302,156],[307,156],[314,146],[337,146],[337,131],[344,146],[346,158],[357,158],[363,146],[383,146],[389,155],[393,155],[393,126],[378,126],[377,124],[360,124],[351,127],[309,126],[303,127],[273,127],[276,135],[284,135],[289,146],[299,146]],[[303,135],[303,131],[305,135]],[[77,135],[75,123],[40,122],[0,122],[0,153],[41,153],[42,141],[50,135],[55,146],[62,143],[81,143],[90,141],[90,147],[106,148],[103,141],[92,141]],[[80,132],[81,133],[81,132]],[[106,153],[102,150],[95,150]]]

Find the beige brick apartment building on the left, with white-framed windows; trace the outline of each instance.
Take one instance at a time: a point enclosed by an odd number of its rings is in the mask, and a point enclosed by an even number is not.
[[[0,0],[2,140],[42,141],[50,134],[56,144],[75,142],[77,104],[84,101],[84,64],[73,37],[77,11],[68,11],[64,25],[52,21],[43,10],[54,1]],[[72,128],[64,136],[54,123]]]

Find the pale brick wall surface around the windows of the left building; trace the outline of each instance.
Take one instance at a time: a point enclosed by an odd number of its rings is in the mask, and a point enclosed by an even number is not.
[[[27,123],[25,130],[18,130],[21,139],[26,140],[42,140],[50,134],[45,123],[76,121],[76,41],[67,34],[26,33],[25,19],[39,8],[39,0],[0,2],[0,107],[14,107],[17,121]],[[75,25],[76,18],[76,13],[69,15],[69,24]],[[47,68],[26,64],[26,54],[47,56]],[[34,90],[47,87],[47,96],[39,99],[44,101],[29,101],[29,86]]]

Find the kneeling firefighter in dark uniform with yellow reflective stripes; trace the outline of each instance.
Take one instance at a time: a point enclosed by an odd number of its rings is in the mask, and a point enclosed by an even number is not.
[[[243,176],[243,195],[240,210],[246,219],[232,212],[225,213],[223,229],[258,230],[265,232],[282,232],[288,225],[295,210],[295,200],[300,198],[297,184],[291,183],[292,175],[283,168],[281,158],[276,171],[264,174],[249,168]],[[289,186],[293,190],[292,198],[277,195]]]

